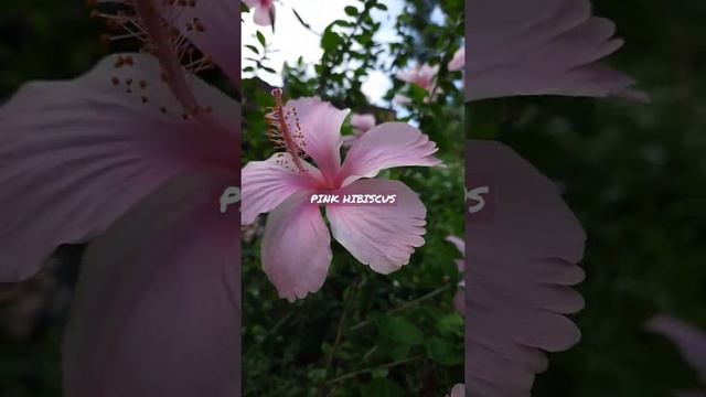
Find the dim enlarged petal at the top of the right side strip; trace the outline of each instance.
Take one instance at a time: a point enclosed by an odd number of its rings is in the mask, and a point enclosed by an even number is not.
[[[588,0],[471,1],[466,99],[513,95],[648,97],[633,81],[599,64],[617,51],[614,24],[591,15]]]

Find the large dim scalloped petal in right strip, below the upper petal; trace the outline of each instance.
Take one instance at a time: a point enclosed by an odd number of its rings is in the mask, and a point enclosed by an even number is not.
[[[471,140],[466,153],[467,179],[490,186],[490,213],[467,214],[470,394],[528,396],[547,366],[543,352],[580,337],[565,315],[584,305],[570,286],[584,278],[575,264],[586,237],[555,184],[511,149]]]

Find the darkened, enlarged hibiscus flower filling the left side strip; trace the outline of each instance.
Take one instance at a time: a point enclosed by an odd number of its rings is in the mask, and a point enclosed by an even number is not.
[[[194,72],[213,62],[237,86],[238,3],[116,2],[94,15],[150,54],[26,84],[0,108],[0,281],[90,242],[65,395],[237,395],[239,212],[220,204],[239,184],[239,105]]]

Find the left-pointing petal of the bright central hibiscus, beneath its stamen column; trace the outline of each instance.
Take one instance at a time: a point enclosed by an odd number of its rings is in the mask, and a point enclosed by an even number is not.
[[[266,161],[250,161],[242,171],[242,223],[247,225],[257,215],[268,213],[298,191],[315,189],[322,176],[313,165],[302,161],[307,175],[299,174],[289,153],[276,153]]]

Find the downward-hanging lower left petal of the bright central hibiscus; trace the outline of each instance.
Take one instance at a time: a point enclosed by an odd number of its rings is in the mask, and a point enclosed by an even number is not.
[[[329,228],[308,200],[306,192],[287,198],[267,217],[263,236],[263,269],[290,302],[321,289],[331,265]]]

